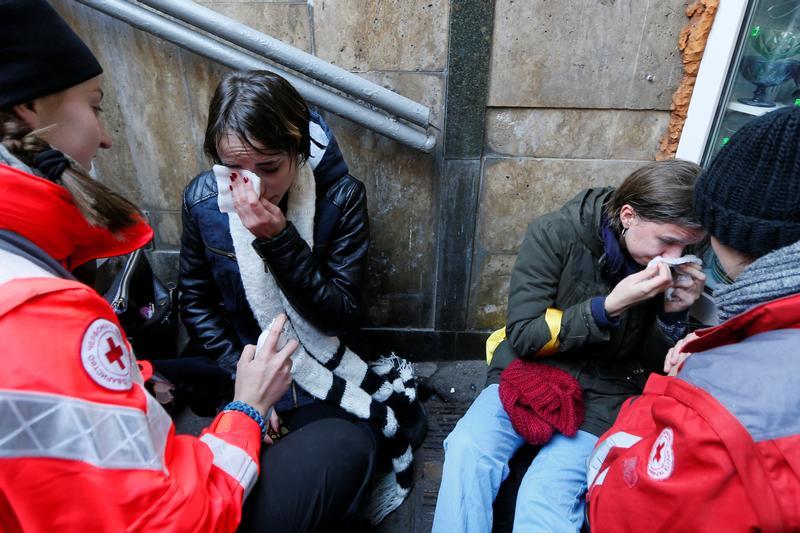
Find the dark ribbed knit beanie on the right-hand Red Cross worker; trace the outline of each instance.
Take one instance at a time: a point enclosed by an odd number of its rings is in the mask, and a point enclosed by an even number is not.
[[[751,257],[800,241],[800,108],[737,131],[698,178],[694,208],[711,235]]]

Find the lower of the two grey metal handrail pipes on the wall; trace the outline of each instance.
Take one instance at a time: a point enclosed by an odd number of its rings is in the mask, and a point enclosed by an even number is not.
[[[269,70],[286,78],[309,103],[352,120],[390,139],[431,152],[436,138],[398,122],[377,111],[368,109],[347,98],[284,72],[265,61],[256,59],[231,46],[181,26],[141,6],[124,0],[78,0],[106,15],[127,22],[142,31],[186,48],[213,61],[238,70]]]

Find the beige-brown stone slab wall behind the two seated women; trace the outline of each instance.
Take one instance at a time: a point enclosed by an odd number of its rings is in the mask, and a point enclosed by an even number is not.
[[[136,199],[174,271],[180,198],[208,167],[202,137],[225,69],[72,0],[52,0],[106,69],[114,150],[102,179]],[[204,5],[429,105],[445,127],[448,0],[204,0]],[[453,3],[455,6],[456,4]],[[681,75],[684,0],[495,0],[468,329],[503,324],[527,223],[655,156]],[[422,154],[327,115],[368,190],[369,314],[433,327],[442,147]],[[459,260],[460,258],[452,258]]]

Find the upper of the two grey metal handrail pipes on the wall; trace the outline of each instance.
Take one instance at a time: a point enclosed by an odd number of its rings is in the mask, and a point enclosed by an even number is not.
[[[302,72],[309,78],[385,109],[392,115],[423,128],[428,126],[431,110],[424,105],[265,35],[237,20],[196,4],[192,0],[138,0],[138,2],[292,70]]]

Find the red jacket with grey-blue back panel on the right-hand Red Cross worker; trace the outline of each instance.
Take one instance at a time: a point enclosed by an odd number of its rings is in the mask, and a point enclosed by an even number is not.
[[[593,532],[800,531],[800,295],[698,332],[589,462]]]

